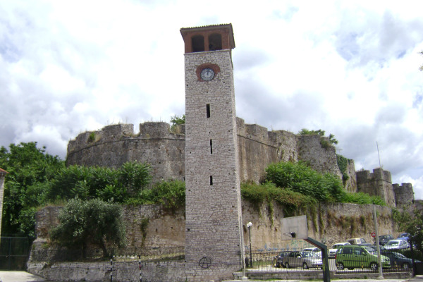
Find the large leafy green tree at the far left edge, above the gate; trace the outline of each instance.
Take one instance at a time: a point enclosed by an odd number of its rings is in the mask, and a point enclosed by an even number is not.
[[[4,184],[1,234],[35,236],[35,207],[44,204],[49,181],[65,166],[37,142],[0,148],[0,167],[8,171]]]

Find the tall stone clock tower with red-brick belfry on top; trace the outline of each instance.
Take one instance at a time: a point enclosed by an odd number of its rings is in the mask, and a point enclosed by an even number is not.
[[[242,268],[232,25],[182,28],[185,42],[185,274],[221,281]]]

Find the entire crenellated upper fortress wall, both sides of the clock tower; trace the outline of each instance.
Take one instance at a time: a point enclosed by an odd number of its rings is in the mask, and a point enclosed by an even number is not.
[[[286,130],[271,130],[257,124],[245,124],[237,118],[238,163],[240,180],[259,183],[264,179],[264,169],[278,161],[306,161],[314,170],[342,173],[336,160],[336,148],[322,146],[318,135],[296,135]],[[109,166],[117,168],[127,161],[151,164],[153,183],[159,180],[185,180],[185,125],[171,132],[164,122],[134,125],[108,125],[102,130],[85,132],[68,144],[67,165]],[[391,173],[381,168],[355,171],[355,164],[348,159],[345,190],[379,195],[391,207],[414,202],[410,183],[391,183]]]

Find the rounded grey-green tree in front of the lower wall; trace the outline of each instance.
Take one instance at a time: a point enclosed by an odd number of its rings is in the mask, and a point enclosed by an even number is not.
[[[59,245],[81,250],[82,255],[87,245],[97,245],[104,257],[109,257],[106,243],[125,245],[121,206],[99,199],[70,200],[59,213],[59,225],[51,228],[50,238]]]

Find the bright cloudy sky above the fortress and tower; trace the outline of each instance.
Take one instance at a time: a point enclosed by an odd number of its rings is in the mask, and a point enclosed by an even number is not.
[[[180,27],[232,23],[237,116],[326,130],[423,199],[423,3],[0,0],[0,146],[185,112]]]

